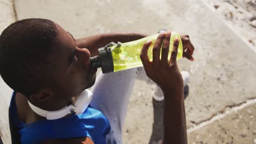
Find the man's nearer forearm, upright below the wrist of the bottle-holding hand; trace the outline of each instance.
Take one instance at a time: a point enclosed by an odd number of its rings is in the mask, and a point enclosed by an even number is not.
[[[173,100],[174,92],[165,94],[164,101],[164,142],[187,143],[187,126],[183,94],[175,95],[181,100]],[[182,95],[181,95],[182,94]]]

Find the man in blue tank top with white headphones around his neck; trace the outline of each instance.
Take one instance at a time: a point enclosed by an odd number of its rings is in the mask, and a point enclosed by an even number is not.
[[[168,31],[156,39],[153,62],[147,57],[150,41],[144,44],[141,59],[147,75],[165,95],[164,143],[187,143],[183,81],[176,64],[178,41],[174,43],[171,60],[168,62],[170,35]],[[0,37],[0,74],[7,85],[14,89],[10,125],[14,132],[16,129],[16,135],[20,136],[18,141],[121,143],[123,111],[126,110],[127,95],[131,93],[132,82],[139,69],[104,76],[101,74],[94,85],[96,69],[91,69],[90,57],[97,55],[97,49],[111,41],[124,43],[145,36],[132,33],[102,34],[75,40],[57,23],[45,19],[21,20],[7,27]],[[193,60],[193,45],[188,36],[182,39],[185,48],[183,56]],[[106,86],[108,79],[117,82]],[[68,114],[49,120],[36,111],[61,111],[73,105],[79,95],[93,85],[94,98],[90,106],[79,115]],[[109,91],[109,88],[115,89]],[[117,93],[120,94],[117,96]],[[123,95],[125,98],[122,98]],[[117,97],[122,100],[117,100]],[[110,105],[117,107],[113,109]]]

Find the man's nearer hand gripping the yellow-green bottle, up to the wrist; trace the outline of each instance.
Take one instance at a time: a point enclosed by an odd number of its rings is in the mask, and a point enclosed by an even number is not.
[[[162,91],[177,92],[183,89],[182,75],[179,72],[176,58],[178,52],[179,40],[175,39],[173,43],[173,50],[171,53],[170,62],[168,62],[168,51],[170,45],[171,32],[159,34],[153,46],[153,61],[149,61],[148,49],[151,41],[145,43],[141,50],[141,60],[144,65],[146,74],[150,79],[157,83]],[[162,47],[161,59],[160,50]]]

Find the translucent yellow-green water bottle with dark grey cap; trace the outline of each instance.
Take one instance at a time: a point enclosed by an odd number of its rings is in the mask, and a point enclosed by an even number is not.
[[[141,58],[139,57],[141,49],[144,43],[148,40],[152,41],[152,44],[148,50],[148,57],[150,61],[153,59],[153,46],[155,40],[159,34],[150,35],[148,37],[130,41],[127,43],[110,43],[100,49],[98,49],[99,56],[91,57],[91,67],[102,68],[102,73],[112,73],[115,71],[126,70],[136,67],[142,67]],[[178,55],[177,59],[182,58],[183,47],[181,37],[176,32],[171,33],[170,50],[168,59],[170,59],[170,53],[173,48],[173,41],[175,38],[179,39]]]

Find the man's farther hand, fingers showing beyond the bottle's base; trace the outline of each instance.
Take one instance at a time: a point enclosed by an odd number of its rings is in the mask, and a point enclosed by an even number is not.
[[[183,45],[183,57],[188,58],[190,61],[194,61],[193,52],[195,50],[194,46],[191,44],[189,35],[181,35],[182,45]]]

